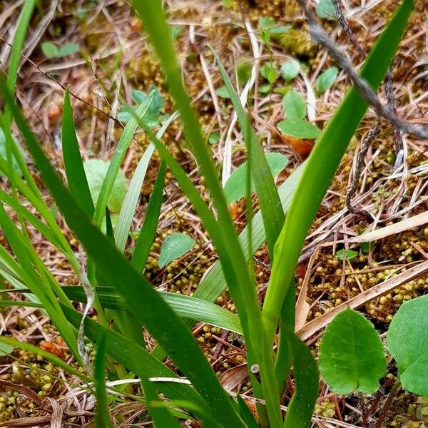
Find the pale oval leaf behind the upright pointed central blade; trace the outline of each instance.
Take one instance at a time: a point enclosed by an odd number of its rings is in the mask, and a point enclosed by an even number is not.
[[[288,163],[287,157],[282,155],[282,153],[266,153],[265,156],[273,177],[276,177]],[[233,171],[226,182],[224,192],[228,203],[233,203],[245,196],[247,168],[248,161],[245,161]],[[255,191],[253,179],[251,180],[251,191]]]

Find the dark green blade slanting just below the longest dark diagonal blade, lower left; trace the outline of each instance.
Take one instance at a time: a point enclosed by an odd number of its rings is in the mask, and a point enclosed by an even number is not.
[[[81,322],[81,314],[76,310],[63,307],[67,319],[72,325],[78,327]],[[172,377],[178,378],[177,374],[143,347],[132,342],[123,335],[109,330],[107,327],[99,325],[97,322],[86,318],[85,334],[89,340],[97,343],[102,335],[106,336],[106,350],[108,355],[121,362],[128,370],[138,377]],[[138,357],[136,357],[138,356]],[[212,409],[205,404],[202,397],[195,392],[195,389],[187,384],[175,382],[158,382],[156,390],[160,394],[165,394],[170,399],[188,399],[195,402],[201,408],[208,410],[208,414],[214,414]],[[215,415],[215,414],[214,414]]]

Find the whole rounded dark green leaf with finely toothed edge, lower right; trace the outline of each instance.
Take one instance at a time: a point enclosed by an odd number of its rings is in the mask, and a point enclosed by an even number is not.
[[[322,336],[319,365],[336,394],[372,394],[387,370],[387,359],[372,323],[346,309],[335,316]]]

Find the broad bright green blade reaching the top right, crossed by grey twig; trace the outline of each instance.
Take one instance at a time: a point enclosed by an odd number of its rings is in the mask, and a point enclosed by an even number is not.
[[[361,76],[374,89],[379,87],[387,73],[404,34],[412,4],[412,0],[403,1],[387,28],[377,39],[362,67]],[[282,303],[294,275],[307,230],[367,108],[367,103],[358,91],[350,88],[335,115],[322,131],[307,160],[280,238],[275,245],[275,260],[263,306],[263,324],[271,343],[275,337]]]

